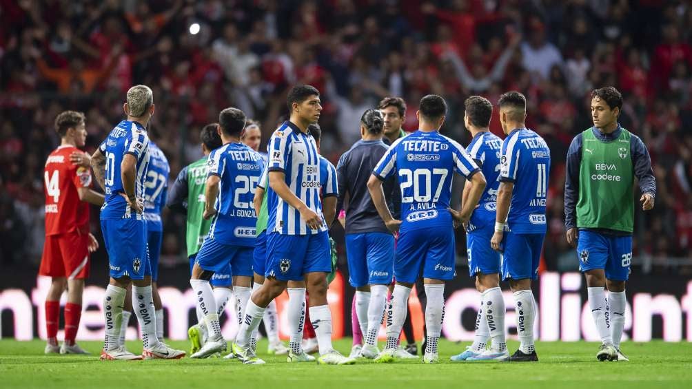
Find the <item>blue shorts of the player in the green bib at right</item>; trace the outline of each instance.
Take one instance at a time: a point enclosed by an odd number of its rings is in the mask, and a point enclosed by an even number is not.
[[[610,236],[581,230],[576,254],[582,272],[605,269],[605,278],[627,281],[632,263],[632,236]]]

